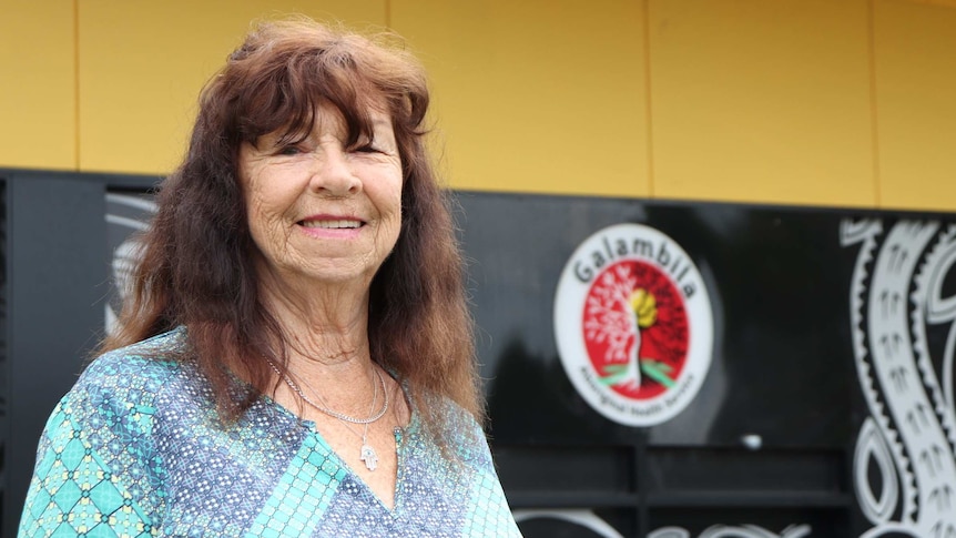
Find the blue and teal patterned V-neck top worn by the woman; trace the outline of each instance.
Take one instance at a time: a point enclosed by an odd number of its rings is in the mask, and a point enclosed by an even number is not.
[[[478,424],[456,407],[449,461],[419,428],[396,434],[386,508],[303,420],[267,397],[235,423],[176,329],[94,361],[53,410],[20,536],[520,536]]]

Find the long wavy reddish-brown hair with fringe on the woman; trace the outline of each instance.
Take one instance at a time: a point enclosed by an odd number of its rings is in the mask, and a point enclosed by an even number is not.
[[[305,19],[264,22],[246,37],[201,94],[189,152],[160,187],[130,298],[101,353],[184,325],[221,414],[245,412],[269,389],[263,357],[286,357],[282,327],[258,294],[240,145],[276,131],[284,142],[304,139],[321,103],[342,113],[354,145],[370,138],[370,110],[385,103],[401,156],[403,219],[370,285],[372,357],[408,387],[433,433],[448,418],[445,398],[484,419],[461,256],[425,148],[425,75],[395,42]],[[231,370],[248,374],[254,388],[244,397],[233,396]]]

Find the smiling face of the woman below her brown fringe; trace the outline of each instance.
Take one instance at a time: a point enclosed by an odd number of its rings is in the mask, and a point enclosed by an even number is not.
[[[391,121],[373,112],[373,138],[344,145],[337,110],[322,105],[312,133],[240,148],[240,177],[257,268],[291,283],[372,281],[398,240],[401,160]]]

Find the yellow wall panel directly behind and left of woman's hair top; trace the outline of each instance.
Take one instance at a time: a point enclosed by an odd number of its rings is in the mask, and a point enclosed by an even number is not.
[[[186,148],[200,90],[250,21],[291,12],[386,23],[385,0],[81,0],[80,169],[170,172]]]

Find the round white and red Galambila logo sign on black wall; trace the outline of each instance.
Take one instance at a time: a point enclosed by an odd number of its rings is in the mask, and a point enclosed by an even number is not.
[[[555,334],[574,388],[599,413],[653,426],[680,413],[710,367],[713,314],[693,261],[663,233],[617,224],[565,266]]]

